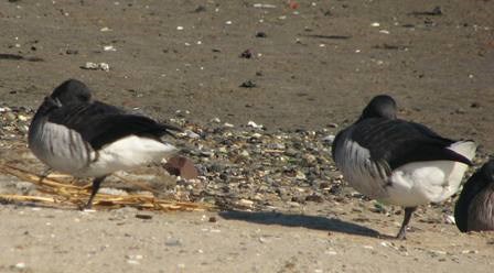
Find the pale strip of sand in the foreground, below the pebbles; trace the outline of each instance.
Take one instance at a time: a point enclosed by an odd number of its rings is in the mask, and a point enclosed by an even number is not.
[[[492,234],[414,223],[407,241],[315,214],[80,212],[3,206],[2,272],[491,272]],[[148,212],[146,212],[148,214]],[[214,217],[215,222],[210,222]],[[339,216],[340,218],[341,215]],[[376,226],[365,223],[366,226]],[[377,227],[377,226],[376,226]],[[396,232],[397,227],[378,227]],[[369,232],[369,233],[366,233]],[[25,265],[25,267],[22,266]],[[22,269],[20,269],[22,267]]]

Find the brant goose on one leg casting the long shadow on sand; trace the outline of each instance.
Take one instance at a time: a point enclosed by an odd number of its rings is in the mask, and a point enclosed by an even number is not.
[[[442,138],[429,128],[396,118],[396,102],[374,97],[361,118],[337,133],[332,156],[343,176],[369,198],[405,207],[397,234],[417,206],[440,203],[457,193],[476,145]]]

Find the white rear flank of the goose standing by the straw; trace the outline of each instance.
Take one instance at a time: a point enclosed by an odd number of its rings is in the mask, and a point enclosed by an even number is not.
[[[84,176],[101,176],[169,157],[178,149],[149,138],[130,135],[99,150],[99,156],[84,171]]]

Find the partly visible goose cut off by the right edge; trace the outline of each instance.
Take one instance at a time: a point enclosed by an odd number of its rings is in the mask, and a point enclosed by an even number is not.
[[[494,230],[494,160],[463,185],[454,219],[461,232]]]

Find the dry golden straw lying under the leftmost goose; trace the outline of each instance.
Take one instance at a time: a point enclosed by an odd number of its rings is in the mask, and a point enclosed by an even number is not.
[[[60,178],[69,178],[67,175],[51,175],[49,177],[41,177],[31,173],[28,170],[10,165],[0,164],[0,172],[15,176],[22,181],[31,182],[37,186],[37,189],[47,196],[24,196],[24,195],[2,195],[0,194],[0,200],[6,201],[35,201],[51,206],[64,206],[64,205],[77,205],[82,206],[89,198],[90,183],[85,186],[76,186],[67,184]],[[57,178],[54,178],[57,177]],[[132,183],[147,190],[155,193],[152,188],[142,185],[141,183],[130,182],[121,176],[119,178],[127,183]],[[207,204],[186,203],[164,200],[150,195],[129,194],[126,196],[97,194],[94,199],[93,206],[96,208],[115,209],[125,206],[136,207],[147,210],[161,210],[161,211],[176,211],[176,210],[211,210],[214,207]]]

